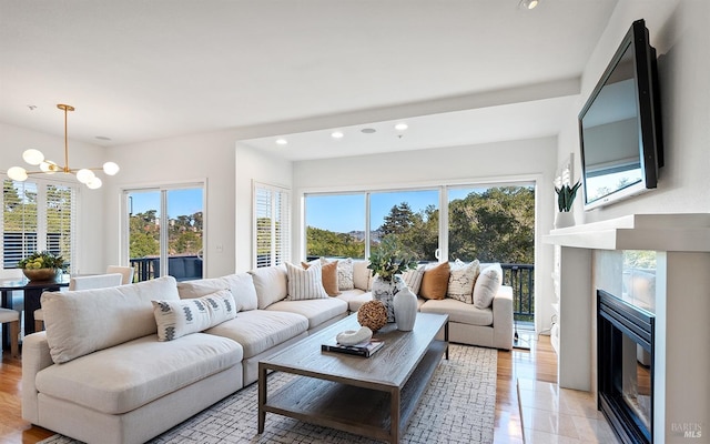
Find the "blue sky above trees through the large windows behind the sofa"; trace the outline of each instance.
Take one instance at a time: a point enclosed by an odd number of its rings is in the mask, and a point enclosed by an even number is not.
[[[471,191],[470,188],[449,189],[448,199],[462,199]],[[419,212],[429,204],[438,208],[438,190],[372,193],[371,228],[379,228],[389,210],[402,202],[407,202],[414,212]],[[365,193],[306,196],[306,225],[337,233],[365,230]]]

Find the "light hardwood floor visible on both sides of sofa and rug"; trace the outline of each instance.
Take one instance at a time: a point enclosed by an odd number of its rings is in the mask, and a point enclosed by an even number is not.
[[[529,339],[529,351],[514,349],[510,352],[498,352],[496,444],[524,442],[517,381],[557,383],[557,355],[550,346],[549,337],[521,337]],[[37,443],[53,434],[22,420],[21,377],[21,361],[11,359],[9,352],[3,353],[0,362],[0,444]]]

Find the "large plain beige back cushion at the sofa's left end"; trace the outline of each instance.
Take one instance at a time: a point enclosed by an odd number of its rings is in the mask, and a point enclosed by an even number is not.
[[[110,289],[44,292],[41,304],[52,360],[59,364],[155,334],[155,299],[180,300],[173,276]]]

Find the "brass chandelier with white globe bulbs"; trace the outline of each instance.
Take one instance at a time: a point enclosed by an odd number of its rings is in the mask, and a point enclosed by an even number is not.
[[[29,163],[30,165],[38,167],[40,171],[27,171],[22,167],[12,167],[8,170],[8,176],[14,181],[23,182],[27,180],[28,174],[54,174],[54,173],[65,173],[65,174],[75,174],[77,180],[92,190],[101,188],[101,179],[94,174],[94,171],[103,170],[103,172],[108,175],[114,175],[119,172],[119,165],[114,162],[106,162],[103,164],[103,168],[82,168],[82,169],[71,169],[69,168],[69,142],[67,138],[67,115],[69,111],[74,111],[74,107],[70,104],[59,103],[57,105],[60,110],[64,111],[64,167],[58,165],[55,162],[51,160],[44,159],[44,154],[41,151],[29,149],[22,153],[22,159]]]

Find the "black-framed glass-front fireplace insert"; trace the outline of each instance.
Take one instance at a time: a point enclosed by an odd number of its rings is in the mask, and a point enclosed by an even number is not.
[[[622,443],[653,442],[655,315],[597,291],[599,408]]]

